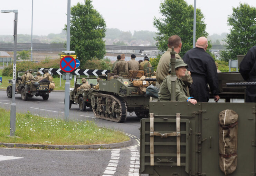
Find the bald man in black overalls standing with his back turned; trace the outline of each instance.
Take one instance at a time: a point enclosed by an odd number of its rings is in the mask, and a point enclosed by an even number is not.
[[[220,98],[218,73],[214,59],[206,52],[207,47],[207,38],[200,37],[197,39],[196,48],[189,50],[183,56],[183,61],[189,65],[188,70],[193,79],[189,93],[198,102],[208,102],[210,98],[208,83],[214,100],[218,102]]]

